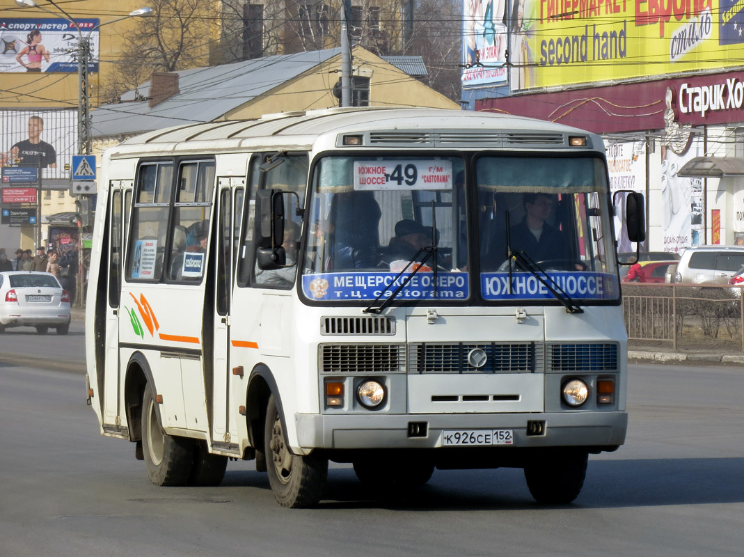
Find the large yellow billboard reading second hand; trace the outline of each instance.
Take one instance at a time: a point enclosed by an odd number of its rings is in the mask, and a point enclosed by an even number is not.
[[[744,66],[740,0],[513,1],[513,90]]]

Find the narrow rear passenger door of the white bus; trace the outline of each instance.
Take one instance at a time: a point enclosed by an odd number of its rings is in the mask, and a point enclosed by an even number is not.
[[[103,428],[119,431],[121,426],[121,362],[119,358],[119,321],[129,321],[120,308],[121,273],[124,265],[124,234],[132,203],[132,182],[112,182],[109,188],[109,255],[106,304],[106,357],[104,363]],[[124,311],[124,314],[121,312]]]

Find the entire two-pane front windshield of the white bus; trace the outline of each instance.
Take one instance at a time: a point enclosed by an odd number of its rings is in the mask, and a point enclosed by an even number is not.
[[[465,168],[458,156],[320,159],[301,284],[307,299],[618,299],[601,159],[481,156],[469,180]],[[468,188],[478,201],[475,238]]]

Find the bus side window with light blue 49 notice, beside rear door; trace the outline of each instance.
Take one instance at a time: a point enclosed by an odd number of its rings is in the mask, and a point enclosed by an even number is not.
[[[132,210],[132,236],[127,252],[126,278],[159,281],[168,232],[173,163],[141,165]]]

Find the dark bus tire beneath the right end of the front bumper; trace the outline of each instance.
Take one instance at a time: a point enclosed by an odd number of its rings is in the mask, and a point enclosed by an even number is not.
[[[542,455],[525,466],[525,480],[532,497],[543,505],[571,503],[584,485],[587,462],[589,453],[581,450]]]

